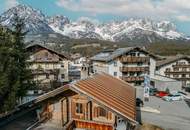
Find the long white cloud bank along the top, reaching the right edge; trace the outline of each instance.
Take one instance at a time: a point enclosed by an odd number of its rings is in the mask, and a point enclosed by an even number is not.
[[[68,10],[93,15],[113,14],[178,20],[187,20],[190,17],[189,0],[58,0],[56,4]]]

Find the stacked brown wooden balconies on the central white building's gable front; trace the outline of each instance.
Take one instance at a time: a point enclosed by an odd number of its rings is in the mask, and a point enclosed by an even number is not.
[[[150,57],[148,56],[140,56],[140,53],[143,53],[139,51],[139,55],[136,55],[136,52],[131,52],[131,54],[135,54],[131,56],[130,54],[123,55],[120,58],[121,63],[123,64],[122,67],[120,67],[120,71],[122,72],[121,79],[125,80],[129,83],[134,83],[137,85],[140,85],[144,82],[144,74],[149,74],[149,63],[150,63]]]

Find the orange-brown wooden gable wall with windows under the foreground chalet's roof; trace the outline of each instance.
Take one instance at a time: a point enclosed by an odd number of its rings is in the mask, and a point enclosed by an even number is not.
[[[115,116],[87,97],[75,95],[71,98],[71,118],[76,128],[113,130]]]

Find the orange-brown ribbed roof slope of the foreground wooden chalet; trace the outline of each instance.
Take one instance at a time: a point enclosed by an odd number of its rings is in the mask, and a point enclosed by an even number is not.
[[[135,122],[136,90],[130,84],[108,74],[96,74],[73,83],[71,88]]]

